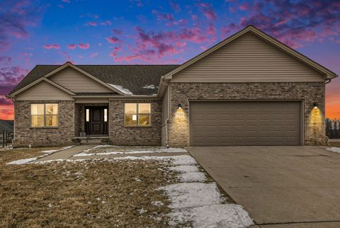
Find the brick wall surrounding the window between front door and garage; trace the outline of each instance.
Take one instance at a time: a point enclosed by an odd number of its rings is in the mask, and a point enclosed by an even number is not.
[[[151,103],[151,127],[125,127],[124,103]],[[110,143],[115,145],[160,145],[162,101],[110,101],[108,130]]]

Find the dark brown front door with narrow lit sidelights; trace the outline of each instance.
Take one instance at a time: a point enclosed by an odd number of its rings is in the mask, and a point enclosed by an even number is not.
[[[107,135],[107,110],[102,106],[85,108],[86,135]]]

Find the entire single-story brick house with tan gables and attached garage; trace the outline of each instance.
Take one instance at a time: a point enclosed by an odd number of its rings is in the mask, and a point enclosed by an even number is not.
[[[319,145],[335,77],[252,25],[181,65],[38,65],[8,94],[13,145]]]

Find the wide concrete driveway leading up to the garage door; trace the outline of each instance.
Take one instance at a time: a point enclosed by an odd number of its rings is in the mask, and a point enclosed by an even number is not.
[[[340,227],[340,154],[319,147],[188,147],[260,227]]]

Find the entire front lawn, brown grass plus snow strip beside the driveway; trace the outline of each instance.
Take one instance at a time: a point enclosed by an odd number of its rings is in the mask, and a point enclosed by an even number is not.
[[[6,164],[41,150],[0,152],[0,227],[252,224],[191,156]]]

